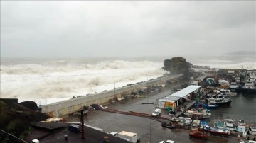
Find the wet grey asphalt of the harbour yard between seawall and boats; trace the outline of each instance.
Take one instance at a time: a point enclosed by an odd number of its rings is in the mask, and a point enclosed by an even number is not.
[[[171,86],[171,88],[165,89],[161,92],[150,92],[142,98],[129,99],[127,101],[119,103],[111,103],[107,105],[108,108],[121,110],[121,111],[134,111],[139,113],[151,113],[154,110],[153,105],[142,103],[154,103],[157,98],[167,96],[174,93],[175,88],[181,88],[180,84],[176,86]],[[162,117],[170,118],[170,116],[162,110]],[[69,117],[67,121],[79,121],[78,117]],[[189,130],[183,129],[168,129],[161,127],[161,123],[156,120],[150,120],[148,118],[142,118],[132,115],[122,115],[117,113],[107,113],[100,110],[94,110],[87,113],[84,118],[84,122],[87,125],[92,125],[94,127],[100,127],[104,132],[121,132],[122,130],[128,132],[137,132],[142,143],[152,142],[159,143],[166,139],[174,140],[178,143],[236,143],[240,139],[245,139],[245,137],[215,137],[212,135],[208,136],[207,140],[194,139],[188,136]],[[85,133],[86,134],[86,133]]]

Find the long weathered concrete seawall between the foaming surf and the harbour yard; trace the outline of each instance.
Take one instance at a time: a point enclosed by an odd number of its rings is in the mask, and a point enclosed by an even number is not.
[[[161,86],[162,84],[166,84],[166,81],[177,80],[181,76],[183,76],[183,74],[164,76],[140,84],[133,84],[131,86],[116,88],[115,90],[113,89],[111,91],[104,91],[102,93],[95,93],[93,95],[73,98],[68,101],[43,105],[42,113],[46,113],[46,115],[49,115],[50,117],[67,116],[70,113],[78,111],[83,106],[89,106],[92,104],[107,105],[107,103],[110,103],[113,98],[121,98],[124,95],[129,95],[131,92],[136,92],[142,87],[151,88],[153,86]]]

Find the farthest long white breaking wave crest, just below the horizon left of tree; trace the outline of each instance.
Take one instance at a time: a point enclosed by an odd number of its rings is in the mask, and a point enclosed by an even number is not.
[[[78,70],[99,69],[133,69],[162,66],[159,62],[129,62],[123,60],[102,61],[96,64],[74,61],[43,62],[41,64],[1,65],[1,74],[48,74],[53,72],[69,72]]]

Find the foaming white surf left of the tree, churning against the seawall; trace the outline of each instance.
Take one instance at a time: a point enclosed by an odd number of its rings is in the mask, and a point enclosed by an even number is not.
[[[112,90],[163,76],[162,62],[148,60],[102,60],[97,62],[56,60],[1,64],[1,98],[63,101],[73,96]]]

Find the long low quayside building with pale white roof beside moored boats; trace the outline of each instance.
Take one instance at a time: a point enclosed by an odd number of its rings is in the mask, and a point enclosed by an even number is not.
[[[159,99],[158,101],[159,108],[165,108],[166,105],[172,105],[171,108],[174,108],[176,106],[174,105],[176,101],[178,101],[181,98],[186,98],[186,96],[188,96],[189,93],[196,91],[200,87],[201,86],[191,85],[186,88],[183,88],[181,91],[177,91],[176,93],[173,93],[169,96],[165,96],[164,98]]]

